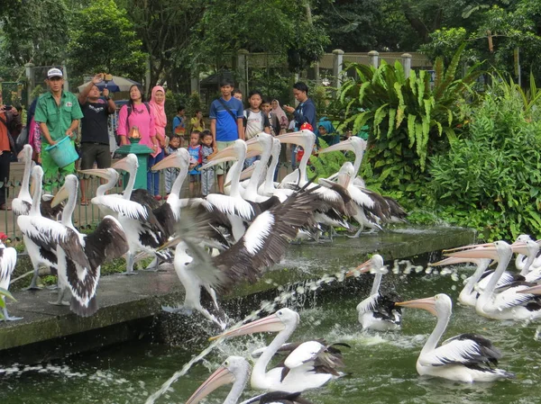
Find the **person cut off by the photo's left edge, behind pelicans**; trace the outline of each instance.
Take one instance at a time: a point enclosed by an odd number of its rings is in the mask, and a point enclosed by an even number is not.
[[[11,105],[0,105],[0,211],[11,211],[5,203],[7,199],[7,182],[12,153],[15,153],[15,142],[12,133],[21,131],[21,115]]]

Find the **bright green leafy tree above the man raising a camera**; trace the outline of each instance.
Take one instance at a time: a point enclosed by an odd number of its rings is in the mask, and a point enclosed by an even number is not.
[[[96,0],[79,10],[70,30],[69,61],[75,75],[100,71],[141,81],[142,41],[113,0]]]

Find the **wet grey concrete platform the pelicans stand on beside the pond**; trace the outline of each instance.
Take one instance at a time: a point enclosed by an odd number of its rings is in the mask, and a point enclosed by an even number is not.
[[[471,229],[459,228],[397,228],[376,234],[362,235],[361,238],[335,238],[334,242],[319,244],[304,243],[291,245],[285,259],[272,268],[259,283],[242,284],[231,296],[244,297],[254,293],[269,292],[280,285],[297,283],[308,279],[317,279],[323,274],[335,274],[341,267],[351,267],[362,263],[369,254],[378,252],[390,262],[394,259],[418,256],[444,248],[458,247],[474,241]],[[0,350],[22,352],[24,346],[34,346],[49,341],[49,346],[58,338],[69,336],[85,336],[99,344],[90,343],[80,346],[70,344],[69,352],[81,349],[114,344],[119,340],[129,339],[137,335],[124,332],[125,324],[141,319],[151,319],[159,313],[162,304],[181,301],[183,288],[172,268],[167,272],[147,273],[125,276],[111,275],[100,280],[97,299],[100,309],[90,318],[79,318],[67,307],[48,304],[56,300],[55,292],[47,290],[38,292],[15,292],[16,302],[8,302],[10,315],[23,317],[23,320],[0,323]],[[146,321],[144,327],[148,327]],[[120,327],[116,329],[115,327]],[[119,330],[123,330],[122,332]],[[101,336],[101,337],[100,337]],[[109,336],[109,337],[103,337]],[[88,339],[87,338],[87,339]],[[43,348],[49,349],[49,348]],[[5,355],[5,358],[16,359],[19,355]],[[13,354],[13,352],[12,352]],[[43,357],[49,357],[43,353]]]

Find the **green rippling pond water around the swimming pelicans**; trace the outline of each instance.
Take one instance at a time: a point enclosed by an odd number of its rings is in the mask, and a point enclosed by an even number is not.
[[[471,272],[472,268],[461,269],[459,274]],[[456,275],[452,279],[442,274],[409,274],[401,278],[389,274],[383,284],[389,283],[396,284],[397,292],[405,300],[447,292],[455,301],[462,285]],[[517,379],[464,384],[421,378],[415,369],[417,355],[436,318],[425,310],[404,310],[401,331],[363,333],[355,306],[365,293],[355,296],[351,287],[348,291],[312,297],[307,309],[299,309],[301,325],[292,340],[324,337],[329,342],[351,346],[344,348],[345,371],[350,374],[321,389],[305,392],[308,400],[316,404],[539,402],[541,342],[535,339],[536,324],[482,319],[473,310],[455,305],[444,337],[476,332],[490,338],[504,355],[500,368],[517,373]],[[228,355],[247,355],[270,340],[271,335],[260,335],[225,341],[156,402],[183,403]],[[204,338],[179,347],[129,343],[51,364],[4,368],[0,370],[0,403],[143,403],[206,346]],[[215,391],[205,402],[221,403],[227,391],[226,387]],[[245,391],[243,400],[256,393]]]

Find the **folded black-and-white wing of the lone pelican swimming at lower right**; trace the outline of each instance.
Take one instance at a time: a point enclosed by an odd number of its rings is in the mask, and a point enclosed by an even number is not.
[[[461,334],[449,338],[434,351],[419,356],[423,365],[445,364],[497,364],[501,353],[491,341],[475,334]]]

